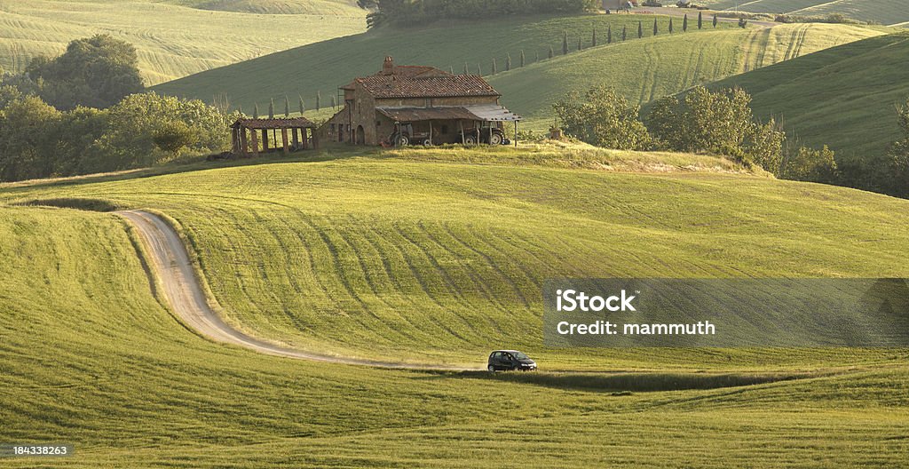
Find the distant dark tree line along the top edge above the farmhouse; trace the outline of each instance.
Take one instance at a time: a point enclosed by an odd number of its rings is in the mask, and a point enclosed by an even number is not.
[[[421,25],[445,18],[476,19],[501,15],[573,14],[596,11],[599,0],[357,0],[369,27]]]

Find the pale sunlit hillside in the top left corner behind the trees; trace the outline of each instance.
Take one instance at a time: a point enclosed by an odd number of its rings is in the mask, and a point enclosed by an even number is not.
[[[0,66],[21,71],[35,55],[59,55],[69,41],[103,33],[135,45],[145,83],[155,85],[298,45],[362,33],[365,12],[348,4],[329,0],[0,0]],[[273,13],[295,15],[267,15]],[[210,101],[212,95],[204,99]]]

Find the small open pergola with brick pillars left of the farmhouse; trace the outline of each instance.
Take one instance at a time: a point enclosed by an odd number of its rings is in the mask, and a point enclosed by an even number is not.
[[[248,136],[247,131],[249,131]],[[277,146],[278,131],[281,131],[280,142],[283,144],[280,147]],[[269,138],[269,132],[271,138]],[[305,117],[237,119],[234,125],[231,125],[231,133],[234,155],[258,156],[260,135],[263,153],[283,150],[285,154],[288,154],[316,147],[315,124]],[[269,140],[274,141],[275,145],[269,147]]]

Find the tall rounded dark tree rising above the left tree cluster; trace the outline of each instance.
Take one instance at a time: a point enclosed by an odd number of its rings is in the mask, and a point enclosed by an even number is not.
[[[110,35],[77,39],[55,59],[35,57],[25,74],[42,82],[39,95],[57,109],[103,109],[143,90],[135,47]]]

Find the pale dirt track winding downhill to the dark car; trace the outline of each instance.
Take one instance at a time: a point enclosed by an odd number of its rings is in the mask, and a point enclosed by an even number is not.
[[[115,212],[115,214],[123,216],[135,226],[145,245],[145,254],[149,257],[145,261],[158,281],[157,284],[161,289],[159,293],[170,309],[195,332],[215,342],[240,345],[263,354],[331,364],[356,364],[377,368],[414,370],[483,369],[433,364],[403,364],[314,354],[251,337],[226,324],[221,316],[209,306],[183,240],[171,225],[158,215],[139,210]]]

